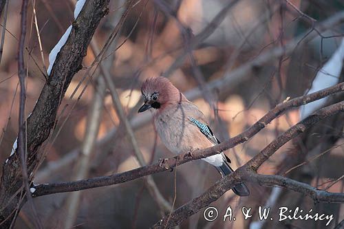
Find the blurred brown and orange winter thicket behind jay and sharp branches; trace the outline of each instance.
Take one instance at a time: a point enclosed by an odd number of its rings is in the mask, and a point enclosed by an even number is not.
[[[74,4],[72,0],[30,1],[25,52],[27,116],[45,83],[43,72],[49,65],[49,53],[74,21]],[[94,34],[95,47],[103,47],[125,8],[124,0],[110,1],[109,14]],[[0,166],[10,155],[18,133],[20,10],[21,1],[10,1],[0,64]],[[173,155],[157,138],[151,114],[137,113],[143,102],[143,80],[168,77],[200,107],[217,138],[227,140],[250,127],[279,102],[310,89],[316,73],[341,45],[343,10],[341,0],[138,1],[102,63],[111,73],[145,163]],[[3,30],[4,17],[1,20]],[[111,91],[98,67],[92,65],[93,51],[89,47],[83,69],[74,76],[63,98],[54,133],[41,149],[46,158],[34,173],[35,184],[111,175],[139,166],[111,100]],[[334,64],[339,73],[342,63],[343,57]],[[323,75],[343,80],[341,74]],[[336,100],[343,100],[343,95],[332,96],[326,102]],[[286,175],[316,188],[343,192],[343,179],[338,179],[343,175],[343,118],[341,114],[333,116],[295,138],[261,166],[259,173]],[[299,120],[299,109],[292,109],[248,142],[225,153],[237,168]],[[302,162],[306,163],[290,171]],[[219,178],[213,167],[200,160],[178,166],[176,172],[153,175],[166,201],[172,204],[176,197],[175,208],[202,194]],[[144,179],[136,179],[78,194],[38,197],[34,202],[45,228],[149,228],[161,219],[162,207],[147,186]],[[274,214],[279,206],[299,206],[307,211],[313,208],[334,214],[330,228],[344,217],[340,204],[314,203],[281,188],[248,186],[249,197],[239,198],[229,190],[211,204],[219,210],[217,220],[204,220],[201,210],[183,221],[180,228],[325,225],[324,221],[261,222],[257,221],[257,210],[252,210],[253,217],[244,221],[241,206],[271,206]],[[235,210],[236,221],[223,222],[228,206]],[[19,213],[14,228],[34,228],[28,206]]]

